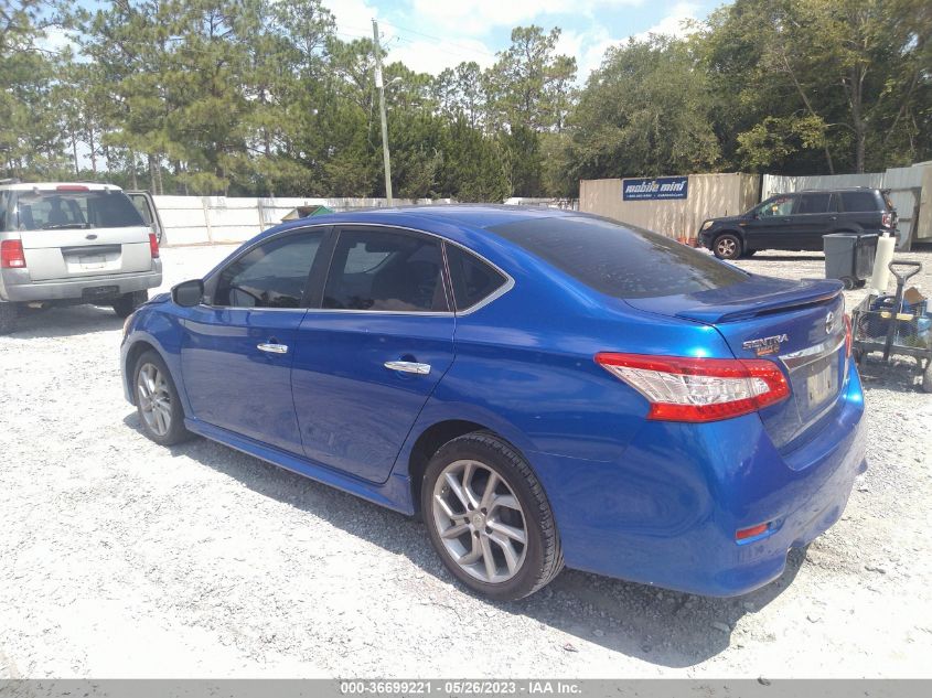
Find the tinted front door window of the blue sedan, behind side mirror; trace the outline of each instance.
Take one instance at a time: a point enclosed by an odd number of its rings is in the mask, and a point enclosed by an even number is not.
[[[322,239],[323,232],[308,232],[259,245],[221,271],[213,304],[301,308]]]

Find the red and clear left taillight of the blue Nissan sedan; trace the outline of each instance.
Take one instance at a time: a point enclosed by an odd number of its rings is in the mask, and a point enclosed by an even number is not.
[[[600,353],[596,363],[647,398],[647,419],[716,421],[757,411],[790,395],[780,367],[762,358]]]

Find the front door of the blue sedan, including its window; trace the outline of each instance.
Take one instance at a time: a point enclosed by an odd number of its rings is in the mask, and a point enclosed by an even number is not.
[[[311,268],[328,228],[263,240],[205,283],[182,321],[181,369],[194,417],[302,454],[291,364]]]

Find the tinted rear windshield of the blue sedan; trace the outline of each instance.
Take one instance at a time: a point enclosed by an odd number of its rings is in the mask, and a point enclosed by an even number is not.
[[[696,293],[748,280],[705,253],[602,218],[534,218],[489,229],[615,298]]]

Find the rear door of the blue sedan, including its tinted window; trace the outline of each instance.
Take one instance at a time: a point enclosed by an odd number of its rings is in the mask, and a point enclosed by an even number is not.
[[[320,308],[298,329],[292,390],[308,458],[384,482],[453,361],[440,239],[338,232]]]

